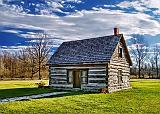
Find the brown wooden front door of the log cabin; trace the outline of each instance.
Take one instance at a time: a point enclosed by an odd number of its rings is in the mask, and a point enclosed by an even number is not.
[[[81,88],[81,78],[80,78],[80,71],[79,70],[73,71],[73,87],[74,88]]]

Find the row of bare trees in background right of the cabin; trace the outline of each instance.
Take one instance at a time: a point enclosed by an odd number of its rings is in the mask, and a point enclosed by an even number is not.
[[[145,38],[138,35],[134,35],[131,42],[131,75],[137,78],[160,78],[160,46],[154,44],[149,47]]]

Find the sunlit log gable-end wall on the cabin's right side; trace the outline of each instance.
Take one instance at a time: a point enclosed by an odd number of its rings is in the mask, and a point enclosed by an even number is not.
[[[116,47],[115,52],[112,55],[112,59],[109,64],[108,70],[108,90],[109,92],[117,91],[124,88],[129,88],[129,76],[130,76],[130,66],[126,60],[125,53],[123,51],[122,58],[119,57],[118,48],[122,47],[122,44],[119,43]],[[122,83],[118,83],[118,71],[122,71]]]

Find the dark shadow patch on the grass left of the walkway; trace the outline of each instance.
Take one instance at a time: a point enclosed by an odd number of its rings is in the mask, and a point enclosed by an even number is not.
[[[51,88],[13,88],[13,89],[0,89],[0,99],[36,95],[42,93],[54,92]]]

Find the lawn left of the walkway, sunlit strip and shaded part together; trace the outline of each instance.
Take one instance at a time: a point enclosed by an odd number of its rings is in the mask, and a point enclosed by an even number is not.
[[[37,88],[36,82],[39,81],[0,81],[0,99],[53,92],[53,89]],[[48,85],[47,80],[44,82]]]

